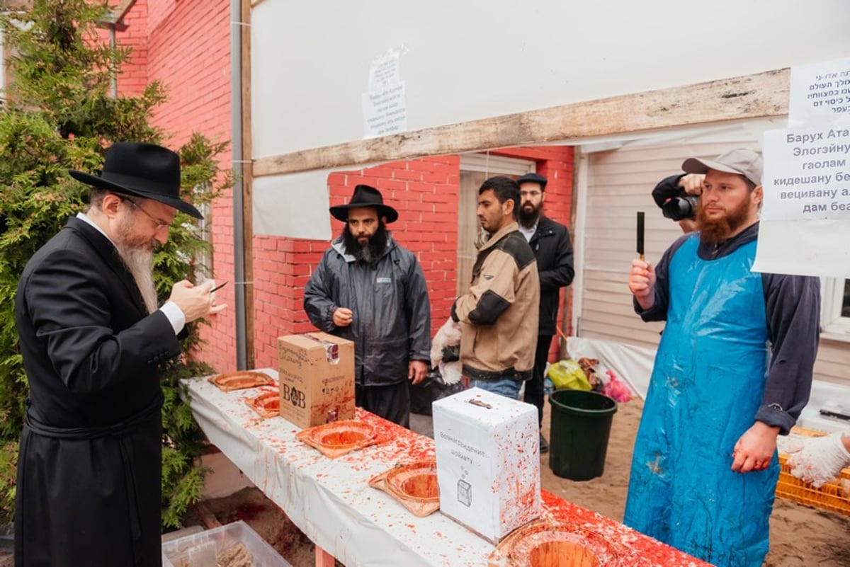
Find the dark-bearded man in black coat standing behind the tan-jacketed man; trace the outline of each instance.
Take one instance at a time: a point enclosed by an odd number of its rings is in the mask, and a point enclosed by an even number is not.
[[[526,173],[517,179],[519,184],[519,232],[531,246],[537,259],[540,278],[540,323],[534,357],[534,375],[525,383],[524,400],[537,407],[537,420],[543,424],[543,391],[549,347],[558,325],[560,291],[573,281],[573,246],[570,232],[563,224],[543,214],[547,178],[539,173]],[[540,434],[540,452],[547,452],[549,443]]]

